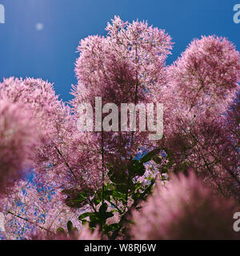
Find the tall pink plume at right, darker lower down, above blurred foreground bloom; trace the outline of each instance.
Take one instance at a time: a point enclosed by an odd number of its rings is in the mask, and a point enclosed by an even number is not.
[[[226,38],[202,37],[166,70],[168,82],[158,96],[164,103],[164,139],[158,144],[166,149],[169,170],[191,167],[221,194],[238,198],[238,138],[230,126],[239,120],[230,120],[238,111],[229,108],[239,90],[239,52]]]

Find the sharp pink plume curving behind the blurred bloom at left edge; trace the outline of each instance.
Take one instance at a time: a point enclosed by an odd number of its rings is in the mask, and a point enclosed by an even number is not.
[[[8,78],[0,84],[0,98],[21,103],[37,122],[42,140],[34,154],[38,182],[58,189],[81,181],[77,162],[84,153],[78,154],[75,146],[81,142],[81,135],[75,133],[77,126],[70,108],[55,95],[53,85],[42,79]],[[74,174],[76,171],[78,174]]]

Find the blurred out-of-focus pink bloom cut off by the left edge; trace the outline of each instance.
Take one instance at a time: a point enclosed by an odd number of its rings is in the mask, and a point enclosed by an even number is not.
[[[29,167],[39,140],[35,126],[30,112],[21,105],[0,100],[0,193],[10,190]]]

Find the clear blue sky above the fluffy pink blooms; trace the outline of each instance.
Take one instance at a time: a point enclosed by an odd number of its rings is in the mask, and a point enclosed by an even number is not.
[[[173,38],[172,63],[193,38],[225,36],[240,50],[240,23],[233,22],[240,0],[0,0],[6,23],[0,24],[0,80],[10,76],[54,82],[69,101],[76,84],[74,62],[78,42],[90,34],[106,34],[106,23],[147,20]]]

